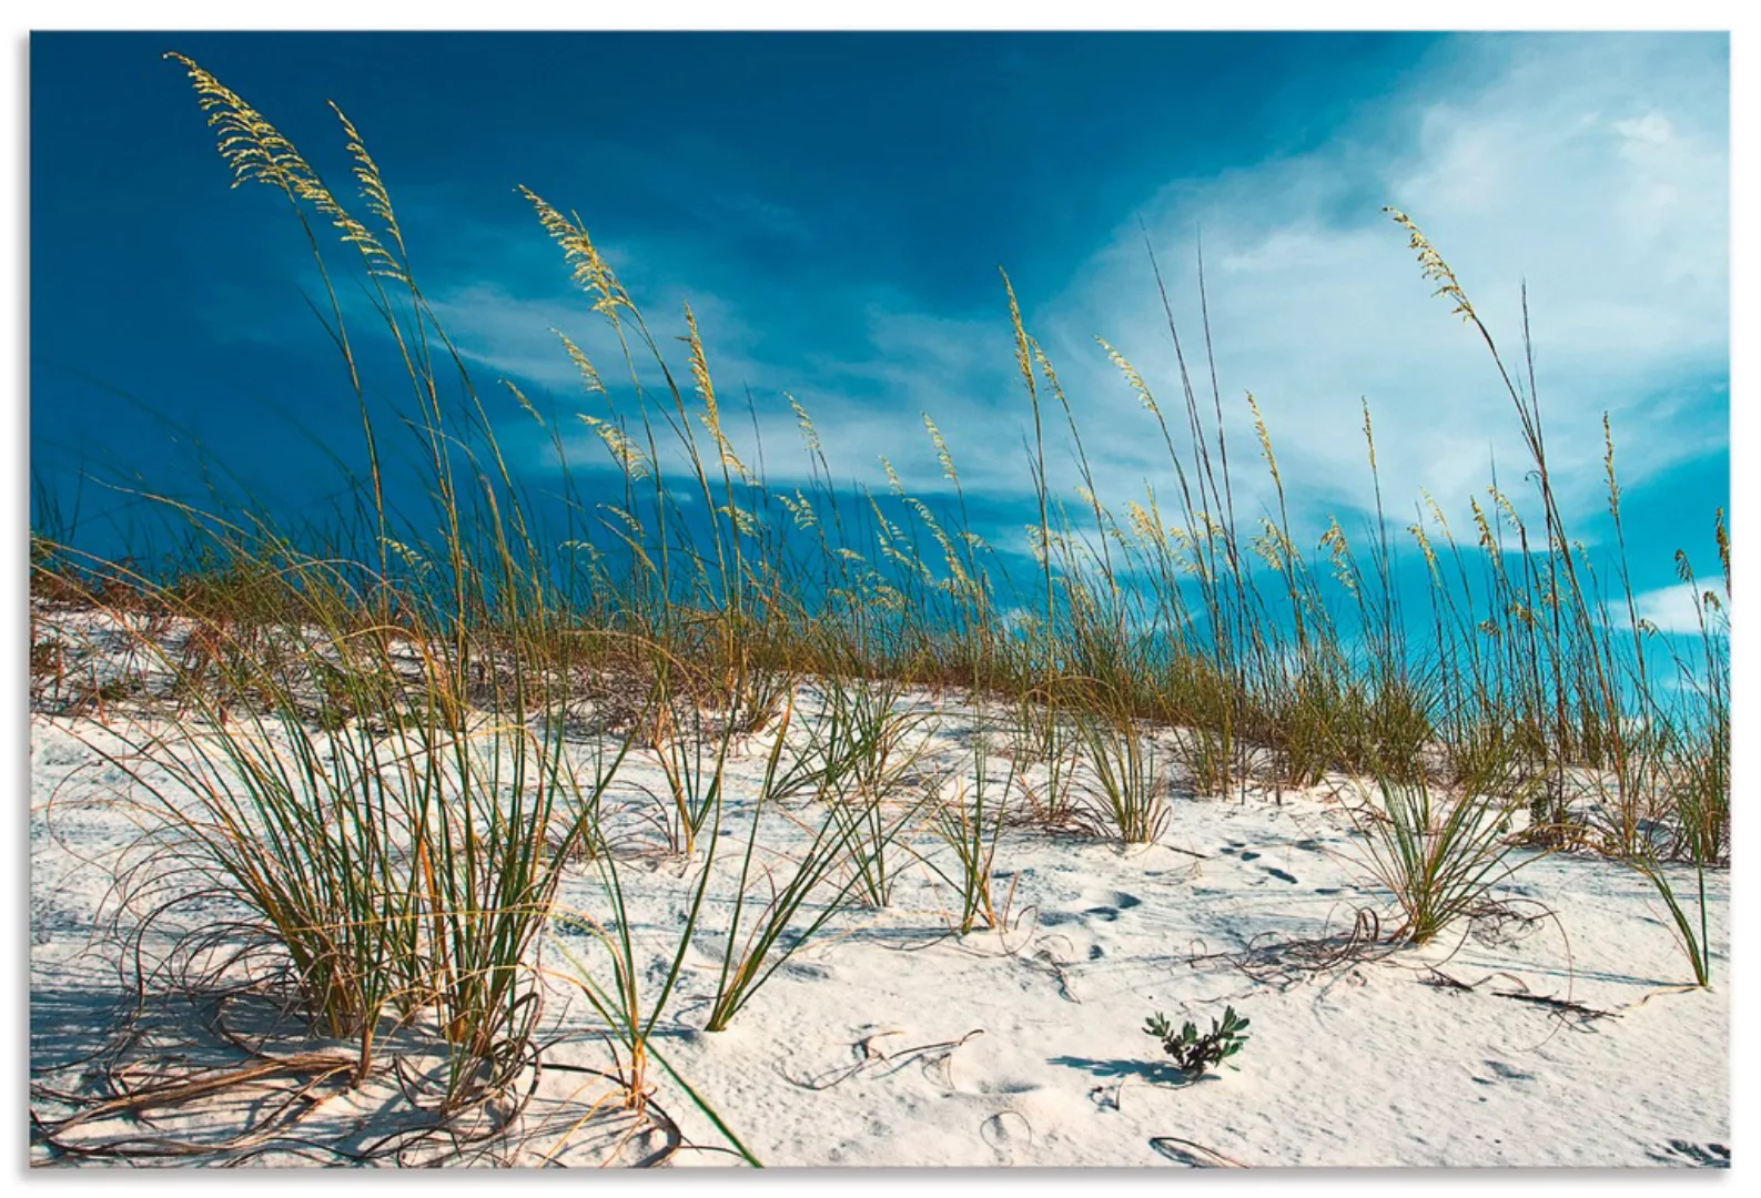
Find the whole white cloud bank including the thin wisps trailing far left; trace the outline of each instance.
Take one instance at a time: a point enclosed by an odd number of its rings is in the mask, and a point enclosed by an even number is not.
[[[1419,220],[1520,373],[1518,296],[1527,280],[1544,427],[1567,508],[1590,514],[1601,503],[1604,410],[1627,486],[1728,445],[1724,42],[1470,37],[1444,42],[1400,91],[1359,109],[1308,153],[1168,179],[1138,211],[1120,213],[1111,245],[1076,257],[1062,294],[1037,304],[1023,296],[1108,498],[1134,496],[1145,480],[1169,496],[1173,473],[1153,422],[1094,334],[1143,371],[1183,440],[1139,218],[1210,408],[1190,253],[1203,230],[1231,466],[1249,510],[1268,487],[1245,391],[1259,398],[1286,486],[1310,519],[1324,521],[1328,510],[1344,517],[1372,501],[1359,396],[1372,406],[1382,489],[1396,517],[1421,486],[1460,510],[1483,491],[1492,461],[1506,489],[1522,493],[1529,463],[1486,348],[1444,301],[1428,297],[1382,204]],[[771,317],[787,322],[785,308],[766,313],[683,290],[641,299],[673,332],[687,294],[717,378],[729,392],[748,382],[759,396],[766,464],[778,482],[805,470],[794,419],[777,398],[791,391],[814,412],[835,473],[880,482],[877,457],[888,454],[909,486],[942,486],[919,415],[930,412],[969,491],[1030,493],[1021,449],[1028,408],[1000,296],[993,313],[954,318],[856,283],[819,299],[865,306],[866,345],[838,347],[836,355],[791,347],[778,361],[757,348],[752,327]],[[497,369],[574,385],[546,327],[590,320],[583,304],[479,290],[449,296],[444,315],[467,352]],[[597,336],[583,332],[595,361],[606,352]],[[669,354],[682,350],[660,340]],[[683,364],[683,352],[674,362]],[[1062,415],[1051,410],[1048,420],[1057,429]],[[743,413],[738,426],[736,440],[750,449]],[[1048,443],[1058,447],[1053,482],[1072,486],[1065,438],[1048,429]]]

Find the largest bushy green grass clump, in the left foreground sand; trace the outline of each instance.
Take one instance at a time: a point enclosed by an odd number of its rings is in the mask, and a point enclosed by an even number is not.
[[[335,586],[321,563],[289,568],[315,596]],[[250,971],[285,975],[315,1031],[356,1041],[356,1082],[384,1036],[426,1027],[447,1050],[442,1110],[511,1084],[539,1015],[528,952],[622,751],[565,755],[518,676],[468,714],[421,628],[343,630],[321,600],[266,661],[143,596],[218,654],[185,686],[187,658],[104,612],[176,704],[169,732],[158,709],[120,705],[92,741],[153,820],[153,871],[241,911],[227,927]]]

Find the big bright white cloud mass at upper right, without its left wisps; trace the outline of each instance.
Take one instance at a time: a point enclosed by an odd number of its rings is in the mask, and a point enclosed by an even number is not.
[[[1472,40],[1314,153],[1166,188],[1145,220],[1197,371],[1196,269],[1180,248],[1203,229],[1236,443],[1252,445],[1242,394],[1254,391],[1286,486],[1367,507],[1367,396],[1384,493],[1402,507],[1421,486],[1460,505],[1493,456],[1506,489],[1527,468],[1485,345],[1426,299],[1377,211],[1388,202],[1449,259],[1513,371],[1527,280],[1548,450],[1571,507],[1599,501],[1604,410],[1629,484],[1722,447],[1710,384],[1728,362],[1724,79],[1708,39]],[[1173,352],[1143,303],[1143,259],[1138,229],[1122,230],[1043,318],[1069,357],[1076,334],[1108,336],[1166,406]],[[1104,373],[1090,366],[1085,382],[1099,391]],[[1109,406],[1124,413],[1118,398]],[[1120,429],[1108,442],[1120,463],[1150,468],[1124,419],[1097,424]]]

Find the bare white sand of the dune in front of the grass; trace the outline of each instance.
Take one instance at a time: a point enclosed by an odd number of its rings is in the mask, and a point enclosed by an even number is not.
[[[970,714],[946,704],[930,760],[954,765],[965,755],[970,767]],[[104,742],[88,718],[32,720],[35,1070],[95,1050],[120,1019],[109,964],[118,948],[100,917],[116,909],[107,894],[139,829],[123,772],[99,760],[93,739]],[[1551,918],[1455,927],[1425,950],[1314,973],[1280,968],[1275,941],[1342,932],[1358,908],[1382,913],[1384,929],[1398,922],[1388,895],[1365,881],[1351,822],[1323,792],[1176,795],[1160,841],[1129,851],[1011,829],[997,853],[1009,927],[965,938],[949,932],[946,883],[898,853],[907,867],[891,908],[836,918],[727,1031],[703,1033],[741,820],[766,748],[757,739],[734,762],[729,848],[655,1041],[766,1165],[1645,1166],[1713,1163],[1729,1145],[1722,873],[1710,880],[1710,992],[1669,989],[1692,975],[1643,878],[1564,855],[1536,860],[1499,892]],[[616,793],[634,802],[641,786],[659,786],[652,756],[627,762]],[[810,809],[798,816],[815,818]],[[787,855],[803,836],[766,814],[768,851]],[[928,832],[910,844],[947,860]],[[625,869],[636,931],[657,964],[676,943],[692,876],[676,857]],[[1684,890],[1691,876],[1680,874]],[[604,913],[590,867],[569,880],[562,904]],[[203,915],[178,918],[190,925]],[[174,931],[148,936],[148,953],[164,952]],[[574,969],[564,950],[604,961],[590,938],[560,924],[541,943],[542,966],[558,975],[546,983],[544,1059],[602,1070],[609,1056],[562,976]],[[1282,962],[1293,961],[1287,950]],[[1145,1019],[1159,1010],[1208,1027],[1226,1003],[1252,1019],[1240,1071],[1176,1084],[1157,1064]],[[148,1031],[183,1019],[174,1008],[150,1012]],[[225,1064],[195,1054],[190,1063]],[[79,1068],[37,1080],[95,1084],[79,1082]],[[690,1143],[726,1145],[662,1070],[650,1080]],[[592,1075],[548,1070],[523,1115],[527,1147],[504,1156],[537,1163],[556,1149],[560,1161],[597,1163],[629,1129],[613,1117],[574,1128],[604,1091]],[[150,1131],[218,1136],[261,1117],[252,1105],[261,1099],[188,1103],[155,1114]],[[33,1105],[60,1114],[55,1103]],[[335,1092],[299,1135],[361,1145],[407,1115],[380,1080]],[[123,1133],[143,1135],[143,1124],[116,1117],[81,1129]],[[660,1145],[659,1133],[637,1136],[620,1159]],[[46,1158],[33,1147],[33,1159]],[[301,1158],[285,1149],[261,1159]],[[671,1158],[731,1161],[694,1149]]]

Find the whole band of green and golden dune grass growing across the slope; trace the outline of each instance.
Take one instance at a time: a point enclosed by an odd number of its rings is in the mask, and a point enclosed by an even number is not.
[[[1256,466],[1224,433],[1215,369],[1208,396],[1196,384],[1205,373],[1189,369],[1166,290],[1173,405],[1120,350],[1102,341],[1099,352],[1166,447],[1173,482],[1113,505],[1083,447],[1079,405],[1004,276],[1035,517],[1013,554],[974,531],[954,452],[930,417],[939,494],[907,493],[891,466],[884,491],[838,484],[794,399],[810,482],[773,486],[764,450],[748,461],[729,435],[741,413],[717,389],[696,315],[682,313],[678,364],[585,223],[525,188],[620,347],[623,375],[602,375],[558,334],[590,410],[553,419],[507,380],[479,392],[416,281],[379,164],[342,111],[349,202],[261,113],[174,58],[232,179],[280,192],[313,253],[366,468],[345,471],[352,507],[324,531],[284,528],[220,493],[206,508],[160,500],[178,549],[150,565],[85,558],[44,500],[32,688],[39,705],[53,698],[123,735],[127,751],[113,756],[148,783],[167,860],[239,902],[313,1026],[357,1043],[363,1075],[384,1029],[428,1026],[453,1054],[442,1107],[505,1089],[534,1052],[532,945],[564,871],[590,862],[604,908],[579,917],[599,948],[578,973],[639,1105],[650,1040],[706,927],[704,887],[727,864],[729,762],[773,737],[761,797],[741,814],[750,827],[718,929],[711,1029],[840,909],[888,904],[909,858],[893,850],[919,809],[905,797],[923,720],[907,711],[912,688],[954,686],[1011,712],[1020,769],[998,786],[979,744],[974,785],[932,820],[958,858],[944,876],[960,894],[960,931],[997,924],[1007,792],[1023,795],[1016,814],[1028,823],[1087,822],[1136,844],[1166,829],[1175,785],[1222,795],[1344,772],[1381,793],[1368,843],[1404,938],[1423,941],[1472,911],[1513,850],[1509,816],[1527,807],[1546,844],[1597,848],[1654,880],[1698,982],[1710,983],[1703,920],[1676,902],[1664,866],[1705,871],[1729,857],[1728,612],[1682,554],[1696,647],[1661,639],[1638,614],[1611,431],[1617,588],[1595,577],[1562,519],[1532,369],[1509,368],[1405,215],[1391,218],[1485,341],[1530,454],[1522,493],[1493,486],[1470,498],[1465,542],[1430,496],[1404,530],[1389,521],[1368,408],[1375,512],[1359,533],[1333,521],[1308,549],[1291,515],[1303,496],[1286,494],[1249,396],[1273,496],[1249,515],[1238,494]],[[328,239],[340,239],[343,262]],[[343,278],[365,289],[377,325],[357,327]],[[1208,359],[1208,310],[1203,341]],[[402,369],[407,399],[375,398],[386,380],[366,375],[370,343]],[[743,403],[750,415],[752,398]],[[560,498],[541,503],[509,466],[507,419],[544,431]],[[565,427],[586,427],[604,461],[572,461]],[[421,486],[407,493],[393,445],[417,463]],[[1050,480],[1057,454],[1078,464],[1074,496]],[[409,494],[426,501],[412,507]],[[1713,533],[1728,596],[1722,512]],[[1396,588],[1400,545],[1425,565],[1423,614]],[[148,681],[70,672],[77,654],[37,637],[49,605],[109,612]],[[1673,668],[1659,670],[1659,646],[1676,654]],[[826,716],[798,730],[803,688]],[[611,737],[585,776],[564,751],[583,695]],[[1180,732],[1159,746],[1152,721]],[[630,756],[659,763],[666,851],[699,871],[652,992],[623,899],[625,846],[599,825]],[[1044,783],[1028,785],[1034,763]],[[1587,788],[1601,800],[1580,802]],[[801,858],[763,860],[768,818],[812,829]]]

